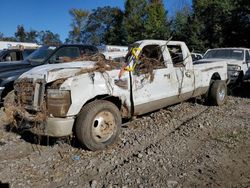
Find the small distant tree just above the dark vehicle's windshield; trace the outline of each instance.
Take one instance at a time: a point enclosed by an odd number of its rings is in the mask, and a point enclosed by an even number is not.
[[[60,35],[54,34],[53,32],[46,30],[40,31],[38,34],[40,43],[45,45],[59,45],[61,44]]]

